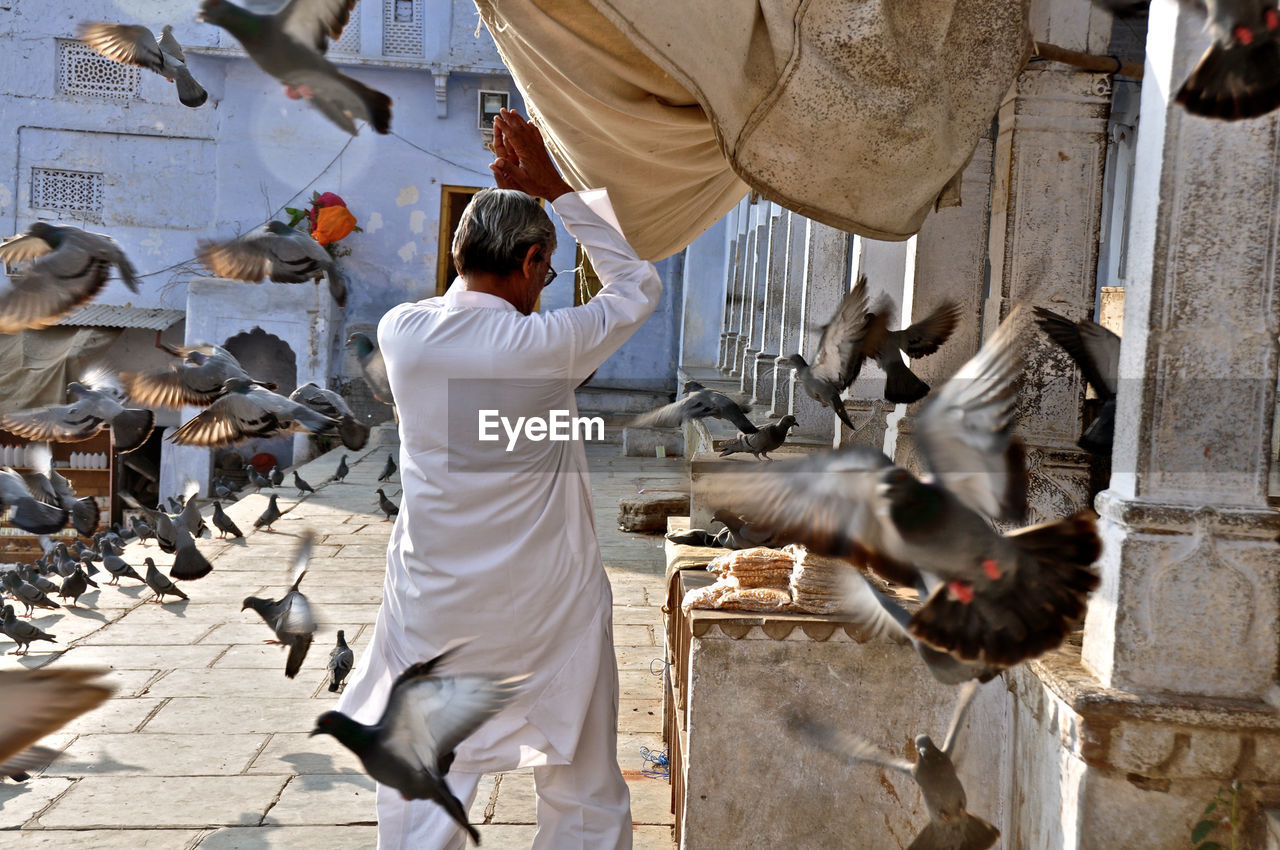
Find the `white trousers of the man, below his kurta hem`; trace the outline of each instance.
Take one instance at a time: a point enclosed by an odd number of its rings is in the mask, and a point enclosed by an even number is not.
[[[612,655],[612,653],[611,653]],[[570,764],[534,768],[538,832],[531,850],[631,850],[631,792],[618,768],[618,670],[607,658],[591,691]],[[465,810],[480,773],[451,771],[449,789]],[[430,800],[404,800],[378,786],[378,850],[463,850],[467,833]]]

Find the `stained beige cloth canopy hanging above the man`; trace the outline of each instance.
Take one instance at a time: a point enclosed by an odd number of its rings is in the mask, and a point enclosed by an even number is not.
[[[919,230],[1030,51],[1025,0],[476,0],[566,179],[672,255],[754,188]]]

